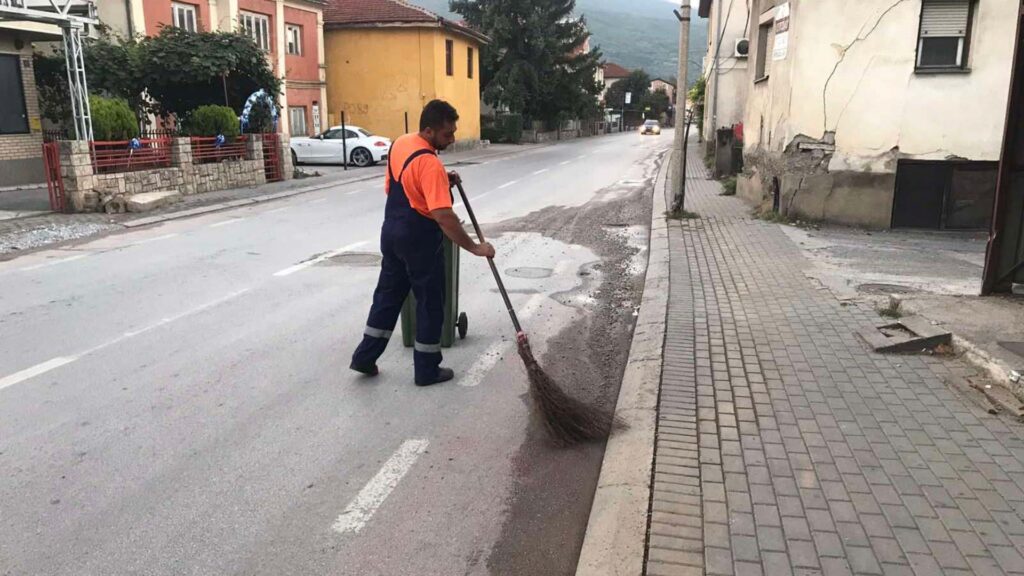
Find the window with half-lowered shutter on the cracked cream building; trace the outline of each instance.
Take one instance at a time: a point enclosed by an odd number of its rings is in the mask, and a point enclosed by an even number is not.
[[[918,35],[918,70],[956,70],[967,63],[971,0],[924,0]]]

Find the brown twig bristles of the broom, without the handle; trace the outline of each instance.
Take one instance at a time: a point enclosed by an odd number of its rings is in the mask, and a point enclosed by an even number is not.
[[[623,425],[610,413],[565,394],[534,358],[525,335],[518,338],[519,356],[529,377],[529,396],[551,439],[560,446],[604,440]]]

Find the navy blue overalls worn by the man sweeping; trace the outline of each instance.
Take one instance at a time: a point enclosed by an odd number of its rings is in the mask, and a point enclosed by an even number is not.
[[[423,149],[410,155],[394,177],[388,160],[388,195],[381,228],[381,274],[374,291],[374,303],[362,342],[352,355],[352,363],[372,366],[384,354],[398,321],[410,288],[416,296],[416,345],[413,358],[416,381],[437,377],[441,363],[441,327],[444,322],[444,251],[441,229],[433,219],[409,204],[401,177],[420,156],[434,154]]]

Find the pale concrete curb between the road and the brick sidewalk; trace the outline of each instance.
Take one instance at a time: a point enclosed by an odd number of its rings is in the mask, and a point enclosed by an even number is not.
[[[650,250],[640,316],[615,404],[629,424],[608,439],[577,576],[639,576],[644,570],[651,466],[669,308],[669,222],[665,186],[672,155],[654,182]]]

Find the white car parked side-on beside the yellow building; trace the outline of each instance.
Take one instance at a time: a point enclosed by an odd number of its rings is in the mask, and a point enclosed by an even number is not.
[[[358,126],[334,126],[316,136],[292,138],[292,161],[295,164],[344,164],[373,166],[387,160],[391,140],[375,136]]]

